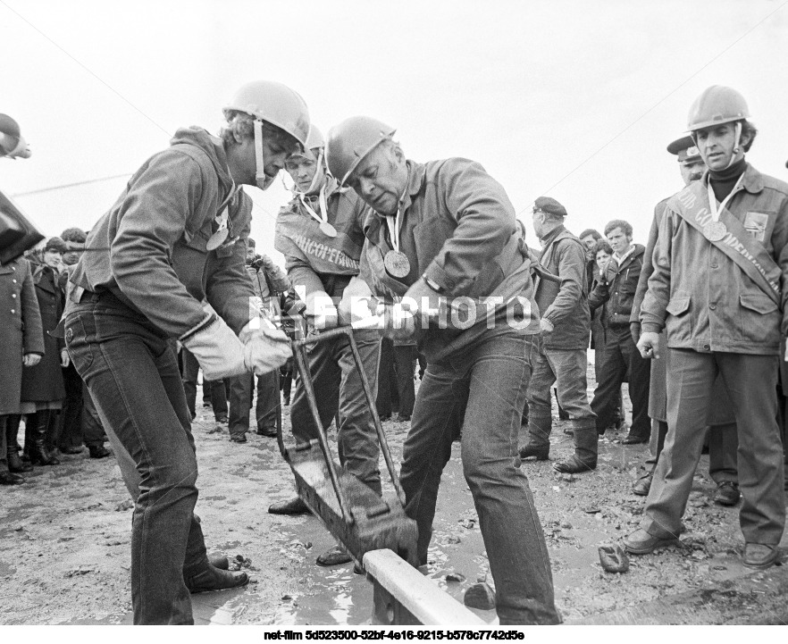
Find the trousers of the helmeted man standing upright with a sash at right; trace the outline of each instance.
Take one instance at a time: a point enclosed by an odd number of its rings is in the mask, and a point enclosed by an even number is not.
[[[748,543],[776,546],[783,536],[783,445],[777,426],[776,355],[700,353],[667,349],[665,448],[659,455],[641,527],[667,538],[682,530],[706,430],[708,400],[717,373],[731,398],[739,433],[739,523]]]

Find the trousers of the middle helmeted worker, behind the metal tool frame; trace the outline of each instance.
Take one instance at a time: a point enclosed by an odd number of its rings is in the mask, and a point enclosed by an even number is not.
[[[356,331],[356,345],[367,381],[372,388],[373,401],[377,395],[378,362],[381,336],[377,330]],[[314,396],[323,428],[328,429],[339,412],[337,442],[340,464],[349,473],[381,494],[381,471],[378,468],[380,446],[367,406],[361,376],[356,369],[350,341],[339,336],[308,347],[309,372],[312,375]],[[317,438],[312,412],[306,402],[306,391],[300,377],[290,408],[293,436],[298,442]]]

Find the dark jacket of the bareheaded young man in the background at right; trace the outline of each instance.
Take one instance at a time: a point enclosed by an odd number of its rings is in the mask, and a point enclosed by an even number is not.
[[[605,274],[588,297],[592,309],[607,303],[605,326],[629,326],[645,252],[641,244],[635,244],[634,247],[633,253],[620,266],[615,260],[615,255],[610,258]]]

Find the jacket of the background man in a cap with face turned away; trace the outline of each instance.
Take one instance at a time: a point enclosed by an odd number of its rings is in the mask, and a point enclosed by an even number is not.
[[[561,283],[533,280],[536,304],[541,317],[555,329],[545,336],[544,346],[557,349],[584,349],[588,346],[591,313],[588,306],[588,276],[585,246],[563,225],[542,239],[539,263],[561,278]]]

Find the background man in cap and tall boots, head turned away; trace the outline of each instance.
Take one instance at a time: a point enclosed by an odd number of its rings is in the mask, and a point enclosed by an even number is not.
[[[596,416],[586,392],[586,347],[591,314],[588,307],[586,248],[566,230],[566,208],[551,197],[533,205],[533,230],[542,250],[539,263],[557,275],[560,284],[534,280],[536,304],[541,313],[541,334],[534,339],[531,382],[528,386],[528,442],[520,456],[547,460],[552,414],[550,389],[557,382],[558,405],[569,414],[574,432],[574,455],[557,461],[562,473],[590,472],[597,466]]]

